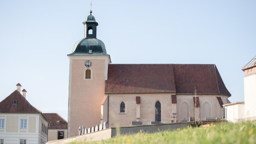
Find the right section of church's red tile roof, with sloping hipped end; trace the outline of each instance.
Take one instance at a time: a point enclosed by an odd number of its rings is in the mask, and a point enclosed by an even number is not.
[[[215,64],[173,64],[176,93],[230,96]]]

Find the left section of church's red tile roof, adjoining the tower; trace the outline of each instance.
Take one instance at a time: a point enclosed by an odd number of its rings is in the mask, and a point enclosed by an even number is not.
[[[172,64],[109,64],[105,93],[175,93]]]

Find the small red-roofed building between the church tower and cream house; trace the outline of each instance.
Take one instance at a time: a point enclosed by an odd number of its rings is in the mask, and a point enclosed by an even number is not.
[[[57,113],[43,113],[50,121],[48,126],[48,141],[68,137],[68,122]]]

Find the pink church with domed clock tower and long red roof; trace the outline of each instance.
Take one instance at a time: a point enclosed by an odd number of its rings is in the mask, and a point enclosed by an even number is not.
[[[68,137],[104,121],[125,127],[224,118],[231,94],[215,64],[111,64],[92,11],[83,24],[84,38],[68,54]]]

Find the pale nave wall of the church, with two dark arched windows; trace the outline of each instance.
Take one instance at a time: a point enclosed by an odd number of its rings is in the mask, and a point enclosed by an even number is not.
[[[155,104],[161,103],[161,122],[171,123],[172,102],[168,94],[109,94],[109,127],[129,126],[137,121],[136,96],[140,97],[140,121],[148,125],[155,121]],[[125,113],[120,113],[120,103],[125,103]]]

